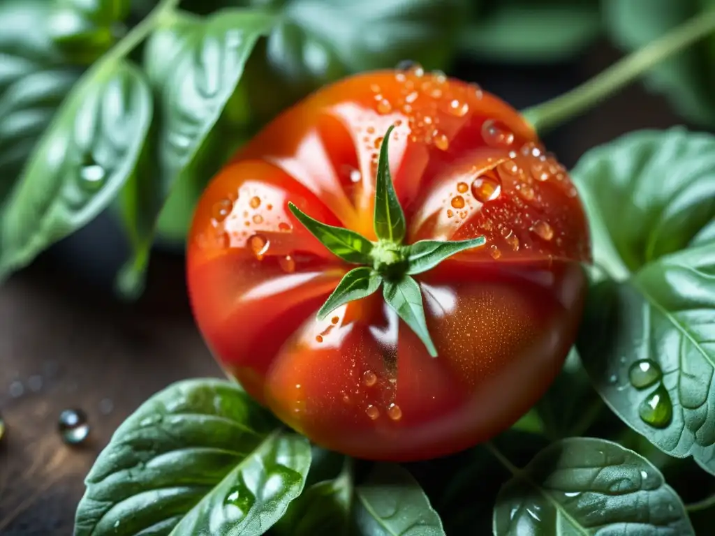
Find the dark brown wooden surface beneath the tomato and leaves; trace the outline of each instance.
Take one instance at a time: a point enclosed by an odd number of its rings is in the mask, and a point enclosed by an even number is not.
[[[602,47],[578,69],[586,78],[615,57]],[[681,122],[663,99],[636,85],[562,129],[556,150],[571,165],[625,131]],[[84,475],[122,420],[177,379],[219,375],[192,322],[177,257],[152,259],[147,293],[132,305],[51,263],[12,277],[0,287],[0,414],[7,426],[0,535],[71,534]],[[92,432],[81,447],[64,445],[56,432],[68,407],[89,415]]]

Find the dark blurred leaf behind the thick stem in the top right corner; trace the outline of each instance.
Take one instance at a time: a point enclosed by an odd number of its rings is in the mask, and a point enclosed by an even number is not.
[[[670,29],[713,9],[712,0],[604,0],[603,20],[611,39],[633,51]],[[663,93],[680,114],[699,124],[715,124],[715,36],[689,46],[652,69],[649,89]]]

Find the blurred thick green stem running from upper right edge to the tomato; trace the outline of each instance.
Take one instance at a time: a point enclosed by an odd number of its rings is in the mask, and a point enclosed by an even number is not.
[[[596,106],[664,59],[704,38],[712,31],[715,31],[715,9],[703,11],[642,49],[617,61],[581,86],[543,104],[532,106],[526,109],[523,115],[539,134],[543,134]]]

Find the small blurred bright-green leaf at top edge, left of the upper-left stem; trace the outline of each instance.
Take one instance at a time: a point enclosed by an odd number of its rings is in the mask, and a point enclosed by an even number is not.
[[[65,56],[89,65],[117,41],[118,23],[129,14],[130,0],[50,0],[49,31]]]

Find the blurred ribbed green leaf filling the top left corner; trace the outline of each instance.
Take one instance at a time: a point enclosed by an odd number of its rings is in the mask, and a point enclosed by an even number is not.
[[[0,3],[0,205],[81,74],[47,34],[51,12],[42,0]]]

